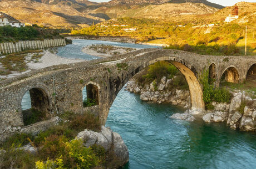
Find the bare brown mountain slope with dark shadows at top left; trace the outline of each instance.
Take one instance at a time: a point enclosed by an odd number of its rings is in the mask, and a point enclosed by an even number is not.
[[[78,27],[100,23],[105,19],[77,11],[67,4],[45,4],[29,1],[2,1],[1,12],[17,18],[23,23],[43,25],[46,27]]]

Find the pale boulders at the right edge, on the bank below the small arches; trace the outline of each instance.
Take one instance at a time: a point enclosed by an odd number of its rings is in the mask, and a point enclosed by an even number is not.
[[[245,95],[245,91],[233,93],[230,104],[212,103],[214,112],[208,112],[203,116],[205,122],[224,122],[231,129],[254,131],[256,128],[256,99]],[[244,106],[244,109],[242,109]],[[238,110],[242,109],[242,113]],[[241,110],[240,110],[241,111]]]

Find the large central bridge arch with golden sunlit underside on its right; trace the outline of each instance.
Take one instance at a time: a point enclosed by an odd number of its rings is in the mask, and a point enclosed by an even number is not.
[[[198,79],[196,78],[196,75],[198,74],[196,72],[196,69],[188,62],[180,58],[159,57],[156,59],[152,59],[148,62],[144,62],[142,63],[142,65],[136,65],[132,67],[132,71],[130,71],[129,74],[125,75],[124,73],[122,73],[122,76],[110,77],[110,94],[112,95],[110,95],[111,100],[108,103],[109,106],[106,107],[106,109],[104,110],[105,114],[101,116],[101,118],[103,118],[102,124],[105,124],[112,103],[114,102],[117,94],[122,89],[122,87],[127,83],[127,81],[129,81],[132,76],[134,76],[137,72],[145,69],[146,66],[149,66],[159,61],[166,61],[173,64],[176,68],[180,70],[181,74],[185,76],[186,82],[188,83],[190,90],[191,109],[195,110],[195,112],[200,112],[205,109],[203,101],[203,90]]]

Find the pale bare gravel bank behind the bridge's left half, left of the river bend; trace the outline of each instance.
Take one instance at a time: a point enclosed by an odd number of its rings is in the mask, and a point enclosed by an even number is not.
[[[42,53],[43,54],[41,58],[37,59],[37,62],[27,62],[28,69],[23,72],[19,71],[11,71],[11,74],[8,75],[0,75],[0,80],[1,79],[8,79],[12,78],[14,76],[18,76],[21,74],[28,73],[31,70],[37,70],[37,69],[42,69],[46,68],[48,66],[53,66],[53,65],[59,65],[59,64],[69,64],[69,63],[76,63],[76,62],[82,62],[85,60],[82,59],[69,59],[69,58],[62,58],[58,56],[56,53],[51,53],[49,50],[44,50]],[[27,55],[27,59],[31,56],[33,53]],[[0,68],[2,68],[2,64],[0,63]]]

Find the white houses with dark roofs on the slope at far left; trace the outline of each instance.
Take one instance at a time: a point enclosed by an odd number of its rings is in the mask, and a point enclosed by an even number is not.
[[[11,25],[12,27],[17,27],[17,28],[25,26],[24,23],[19,22],[17,19],[14,19],[13,17],[0,12],[0,27],[3,27],[5,25]]]

